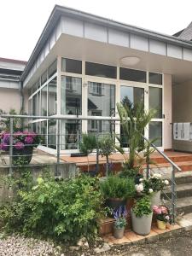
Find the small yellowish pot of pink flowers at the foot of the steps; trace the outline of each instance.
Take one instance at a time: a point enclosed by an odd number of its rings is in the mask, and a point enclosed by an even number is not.
[[[171,222],[169,209],[165,206],[154,206],[153,211],[156,215],[158,229],[166,230],[166,223]]]

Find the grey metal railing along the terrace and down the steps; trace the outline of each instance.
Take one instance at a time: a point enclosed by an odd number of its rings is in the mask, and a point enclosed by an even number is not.
[[[45,137],[49,137],[49,136],[55,136],[55,153],[54,155],[56,156],[56,164],[60,164],[61,163],[61,156],[68,154],[68,153],[63,153],[63,151],[61,151],[61,147],[63,145],[66,145],[66,143],[62,143],[61,142],[61,138],[65,137],[66,134],[61,132],[61,121],[76,121],[78,122],[77,125],[79,125],[79,121],[89,121],[89,120],[95,120],[96,124],[97,124],[97,129],[96,129],[96,136],[100,136],[101,132],[98,131],[98,127],[99,127],[99,121],[108,121],[110,125],[114,125],[115,122],[120,122],[120,119],[115,118],[115,117],[96,117],[96,116],[89,116],[89,117],[80,117],[80,116],[70,116],[70,115],[61,115],[61,116],[30,116],[30,115],[11,115],[11,114],[2,114],[1,115],[2,119],[9,119],[9,174],[11,175],[13,172],[13,157],[14,157],[14,147],[13,147],[13,143],[14,143],[14,119],[27,119],[27,123],[28,124],[35,124],[34,120],[37,122],[42,122],[42,121],[49,121],[49,120],[55,120],[55,127],[56,127],[56,131],[55,133],[51,134],[51,133],[37,133],[38,135],[41,136],[45,136]],[[120,124],[120,123],[119,123]],[[80,137],[80,132],[79,130],[77,131],[77,149],[79,148],[79,137]],[[143,135],[142,135],[143,136]],[[177,191],[176,191],[176,182],[175,182],[175,173],[176,171],[180,172],[181,169],[163,152],[160,151],[159,148],[157,148],[154,143],[150,143],[148,141],[148,138],[143,136],[143,139],[150,144],[150,147],[154,148],[155,151],[157,151],[165,160],[167,160],[171,166],[172,166],[172,177],[171,177],[171,182],[172,182],[172,186],[171,186],[171,192],[172,192],[172,198],[169,198],[168,195],[166,195],[167,200],[171,201],[171,211],[172,211],[172,220],[173,223],[175,223],[175,217],[176,217],[176,212],[177,212]],[[30,144],[32,146],[32,144]],[[46,144],[47,146],[49,146],[49,142],[48,144]],[[98,171],[98,158],[99,158],[99,151],[98,148],[96,148],[96,170]],[[149,170],[149,165],[147,163],[147,169]]]

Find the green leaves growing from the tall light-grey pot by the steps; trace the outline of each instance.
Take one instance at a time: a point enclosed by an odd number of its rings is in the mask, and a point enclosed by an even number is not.
[[[151,201],[148,196],[143,196],[138,199],[132,211],[137,217],[142,217],[143,215],[149,215],[152,213]]]

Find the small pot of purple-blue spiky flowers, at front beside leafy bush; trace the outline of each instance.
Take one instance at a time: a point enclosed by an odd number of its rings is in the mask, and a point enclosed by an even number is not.
[[[119,207],[117,211],[113,212],[113,217],[115,218],[113,226],[113,236],[120,239],[124,236],[125,225],[126,225],[127,212],[125,207]]]

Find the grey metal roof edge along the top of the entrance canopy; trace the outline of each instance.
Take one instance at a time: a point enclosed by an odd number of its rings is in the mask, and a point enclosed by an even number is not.
[[[71,9],[71,8],[66,8],[60,5],[55,5],[55,8],[53,9],[52,13],[49,16],[49,20],[47,21],[46,25],[44,26],[44,30],[41,33],[40,38],[38,39],[38,43],[36,44],[35,48],[32,51],[32,55],[29,58],[29,61],[26,65],[26,68],[21,76],[21,81],[24,81],[26,78],[27,73],[32,68],[33,63],[36,61],[38,58],[38,55],[43,49],[44,44],[49,38],[50,33],[54,29],[55,25],[57,24],[57,21],[60,19],[61,15],[65,15],[67,17],[71,17],[73,19],[78,19],[78,20],[85,20],[85,21],[90,21],[98,25],[102,26],[108,26],[110,28],[119,30],[119,31],[124,31],[124,32],[132,32],[134,34],[144,36],[146,38],[152,38],[156,39],[159,41],[163,41],[166,43],[171,43],[179,46],[183,46],[189,49],[192,49],[192,43],[190,41],[186,41],[183,38],[177,38],[174,36],[168,36],[165,34],[161,34],[159,32],[153,32],[147,29],[143,29],[141,27],[137,26],[130,26],[124,23],[120,23],[118,21],[114,20],[109,20],[106,18],[102,18],[97,15],[90,15],[88,13],[79,11],[77,9]]]

